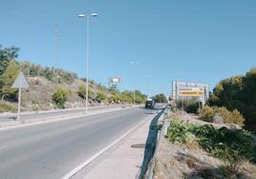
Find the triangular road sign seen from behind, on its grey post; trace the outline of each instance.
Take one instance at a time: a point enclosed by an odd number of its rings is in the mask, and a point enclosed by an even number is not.
[[[15,79],[13,85],[11,86],[12,89],[19,89],[18,93],[18,112],[17,112],[17,121],[20,121],[20,104],[21,104],[21,89],[27,89],[30,85],[26,80],[24,74],[22,72],[19,73],[17,78]]]

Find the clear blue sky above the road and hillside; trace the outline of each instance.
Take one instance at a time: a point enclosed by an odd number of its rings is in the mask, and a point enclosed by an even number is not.
[[[255,0],[0,0],[0,44],[21,50],[18,61],[148,95],[171,93],[173,80],[208,83],[256,67]],[[58,30],[58,61],[54,58]],[[131,65],[130,62],[139,62]]]

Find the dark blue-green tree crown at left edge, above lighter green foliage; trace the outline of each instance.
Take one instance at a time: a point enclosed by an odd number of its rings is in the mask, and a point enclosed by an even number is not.
[[[2,49],[2,46],[0,45],[0,75],[7,69],[10,61],[18,57],[18,51],[19,48],[17,47]]]

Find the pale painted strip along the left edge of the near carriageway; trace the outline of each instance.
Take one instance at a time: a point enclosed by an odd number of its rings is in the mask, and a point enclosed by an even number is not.
[[[0,128],[0,131],[5,130],[5,129],[25,128],[25,127],[36,126],[36,125],[41,125],[41,124],[46,124],[46,123],[65,121],[65,120],[75,119],[75,118],[79,118],[79,117],[85,117],[85,116],[91,116],[91,115],[106,113],[106,112],[117,111],[117,110],[121,110],[121,109],[122,108],[105,109],[105,110],[99,110],[99,111],[92,112],[92,113],[80,114],[80,115],[75,115],[75,116],[67,116],[67,117],[63,117],[63,115],[59,115],[58,117],[53,118],[53,119],[48,118],[47,121],[32,122],[32,123],[29,123],[29,124],[18,124],[18,125],[14,125],[14,126],[11,126],[11,127],[2,127],[2,128]],[[125,109],[129,109],[129,108],[125,108]]]

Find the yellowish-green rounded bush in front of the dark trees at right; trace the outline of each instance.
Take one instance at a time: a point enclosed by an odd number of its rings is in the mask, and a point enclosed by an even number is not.
[[[212,107],[205,106],[203,107],[203,109],[199,110],[199,115],[206,122],[213,122],[214,117],[216,115],[219,115],[220,117],[222,117],[223,122],[226,124],[236,124],[236,125],[239,125],[240,127],[243,127],[245,123],[245,118],[237,109],[234,109],[233,111],[229,111],[224,107],[212,108]]]

